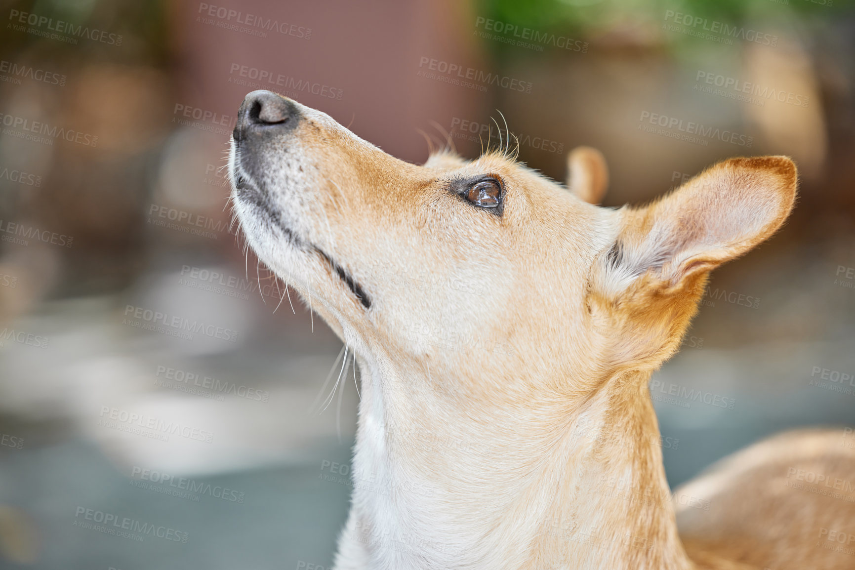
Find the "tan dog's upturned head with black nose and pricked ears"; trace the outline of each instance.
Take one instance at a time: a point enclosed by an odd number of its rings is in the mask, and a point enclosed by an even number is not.
[[[604,173],[585,158],[571,166],[587,192],[502,150],[419,166],[254,91],[229,167],[253,250],[357,353],[491,391],[496,379],[507,388],[657,367],[711,269],[768,238],[793,207],[796,169],[782,156],[721,162],[638,209],[590,203]]]

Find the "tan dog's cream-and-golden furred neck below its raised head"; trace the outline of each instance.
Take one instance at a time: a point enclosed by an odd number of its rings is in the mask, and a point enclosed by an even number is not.
[[[693,567],[649,372],[474,402],[422,363],[360,367],[349,524],[378,567]]]

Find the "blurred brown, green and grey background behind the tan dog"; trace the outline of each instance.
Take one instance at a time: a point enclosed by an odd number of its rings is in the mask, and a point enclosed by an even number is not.
[[[357,392],[319,411],[341,343],[229,224],[224,156],[260,87],[410,162],[449,139],[475,157],[503,116],[520,160],[557,180],[594,146],[606,206],[729,156],[793,156],[793,217],[716,271],[652,381],[669,482],[788,427],[855,424],[852,2],[29,0],[0,15],[0,567],[330,566]]]

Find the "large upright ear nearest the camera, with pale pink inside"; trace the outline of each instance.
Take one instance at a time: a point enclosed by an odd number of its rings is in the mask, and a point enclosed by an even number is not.
[[[796,185],[787,156],[732,158],[646,208],[627,210],[606,256],[606,289],[625,291],[642,275],[659,290],[684,289],[781,227]]]

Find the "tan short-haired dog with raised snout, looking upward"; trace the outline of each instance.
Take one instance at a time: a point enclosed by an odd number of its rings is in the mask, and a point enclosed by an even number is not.
[[[788,485],[852,485],[851,435],[791,433],[678,490],[684,545],[648,393],[710,271],[787,218],[793,162],[734,158],[639,209],[593,205],[596,151],[569,163],[572,191],[502,151],[417,166],[245,98],[241,226],[361,372],[336,568],[855,567],[855,489]]]

